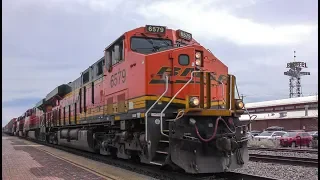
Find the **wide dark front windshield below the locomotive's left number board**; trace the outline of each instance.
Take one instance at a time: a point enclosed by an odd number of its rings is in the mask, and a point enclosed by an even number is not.
[[[131,38],[132,51],[142,54],[150,54],[163,51],[172,47],[172,41],[169,39],[157,39],[148,37],[133,37]]]

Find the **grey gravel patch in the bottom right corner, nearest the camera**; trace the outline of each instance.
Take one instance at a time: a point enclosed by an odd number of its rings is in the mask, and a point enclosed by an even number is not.
[[[248,164],[243,168],[233,171],[256,176],[267,176],[279,180],[318,179],[318,168],[316,167],[302,167],[249,161]]]

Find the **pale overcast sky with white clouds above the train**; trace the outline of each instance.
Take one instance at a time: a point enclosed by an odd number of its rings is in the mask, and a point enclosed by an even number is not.
[[[80,76],[125,31],[191,32],[237,76],[245,102],[288,97],[286,62],[307,62],[318,92],[317,0],[3,0],[2,122]]]

